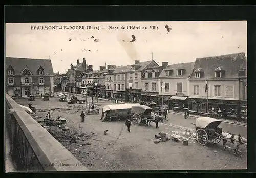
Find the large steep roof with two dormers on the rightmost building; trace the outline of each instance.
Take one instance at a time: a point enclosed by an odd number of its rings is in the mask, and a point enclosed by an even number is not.
[[[202,68],[203,76],[201,78],[215,78],[215,70],[224,70],[224,78],[238,78],[239,70],[246,69],[247,62],[244,53],[233,53],[222,56],[197,58],[194,65],[194,71]],[[190,79],[195,79],[195,75]]]

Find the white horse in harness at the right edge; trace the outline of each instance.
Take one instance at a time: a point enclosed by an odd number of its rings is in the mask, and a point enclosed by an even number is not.
[[[234,154],[238,155],[238,148],[240,145],[244,145],[247,148],[247,139],[242,137],[240,134],[235,135],[227,132],[222,132],[222,143],[223,143],[223,149],[227,150],[226,143],[227,141],[234,144]]]

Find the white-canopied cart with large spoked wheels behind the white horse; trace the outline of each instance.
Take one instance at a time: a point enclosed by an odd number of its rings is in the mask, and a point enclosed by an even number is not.
[[[221,141],[222,128],[218,126],[221,124],[220,120],[210,117],[200,117],[196,120],[195,131],[197,135],[197,142],[201,145],[206,145],[208,141],[218,144]]]

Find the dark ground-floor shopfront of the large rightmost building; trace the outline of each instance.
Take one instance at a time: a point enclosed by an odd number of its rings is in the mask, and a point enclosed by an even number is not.
[[[197,115],[207,115],[209,113],[215,113],[218,115],[218,110],[221,110],[220,118],[238,118],[241,113],[241,105],[239,101],[233,100],[208,100],[207,99],[189,98],[188,108],[190,112]],[[247,108],[247,106],[246,106]]]

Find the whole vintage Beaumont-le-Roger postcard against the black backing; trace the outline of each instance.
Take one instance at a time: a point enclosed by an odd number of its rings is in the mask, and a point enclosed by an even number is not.
[[[247,169],[246,21],[5,27],[6,172]]]

